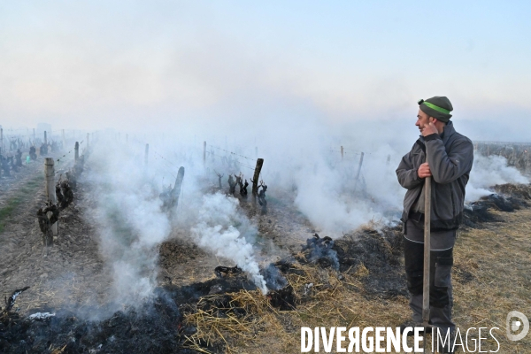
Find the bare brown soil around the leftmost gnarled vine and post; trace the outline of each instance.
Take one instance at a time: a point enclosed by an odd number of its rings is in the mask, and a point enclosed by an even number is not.
[[[37,161],[38,163],[39,161]],[[13,183],[4,196],[12,211],[0,233],[0,289],[6,296],[29,286],[19,298],[20,311],[79,308],[101,304],[109,279],[100,259],[94,230],[85,222],[86,187],[74,190],[74,202],[60,214],[59,236],[53,247],[42,246],[35,213],[45,201],[41,164]]]

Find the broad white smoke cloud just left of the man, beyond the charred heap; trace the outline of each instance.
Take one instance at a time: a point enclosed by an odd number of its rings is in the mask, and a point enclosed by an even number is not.
[[[399,217],[405,192],[396,181],[399,157],[387,144],[367,149],[359,169],[360,152],[341,159],[336,151],[295,174],[295,205],[323,235],[335,238],[369,221],[389,225]]]

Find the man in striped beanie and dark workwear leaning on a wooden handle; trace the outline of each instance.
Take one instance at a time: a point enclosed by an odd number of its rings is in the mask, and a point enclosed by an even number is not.
[[[473,144],[458,134],[450,121],[450,100],[435,96],[419,101],[417,123],[420,137],[396,169],[404,196],[404,261],[411,293],[412,320],[422,323],[424,269],[424,181],[431,182],[430,323],[441,335],[455,329],[451,266],[457,230],[463,219],[465,187],[473,163]],[[427,157],[427,158],[426,158]],[[403,325],[404,329],[408,325]]]

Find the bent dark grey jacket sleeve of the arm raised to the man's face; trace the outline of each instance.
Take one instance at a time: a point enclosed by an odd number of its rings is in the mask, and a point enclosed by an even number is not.
[[[427,164],[435,182],[450,183],[472,168],[473,144],[470,140],[455,142],[450,148],[450,153],[444,149],[439,135],[428,135],[425,140]]]

